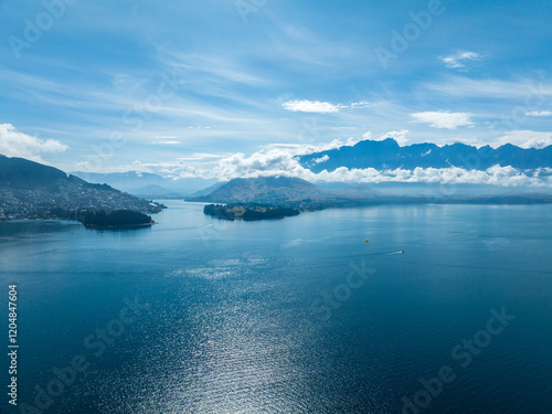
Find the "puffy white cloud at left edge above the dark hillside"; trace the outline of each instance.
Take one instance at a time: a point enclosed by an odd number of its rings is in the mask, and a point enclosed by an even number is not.
[[[42,140],[20,132],[11,124],[0,124],[0,153],[43,162],[42,152],[62,152],[68,147],[55,139]]]

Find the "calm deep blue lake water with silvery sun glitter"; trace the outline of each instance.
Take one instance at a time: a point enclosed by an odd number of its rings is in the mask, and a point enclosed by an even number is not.
[[[166,204],[134,231],[0,223],[18,408],[50,384],[43,413],[552,413],[551,206],[223,222]],[[149,309],[121,316],[125,299]],[[516,319],[491,335],[491,309]],[[75,357],[87,368],[56,388]],[[424,391],[445,365],[454,380]],[[3,395],[2,413],[20,413]]]

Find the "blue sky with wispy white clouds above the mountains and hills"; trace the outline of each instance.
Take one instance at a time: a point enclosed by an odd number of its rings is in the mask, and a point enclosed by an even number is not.
[[[552,144],[551,1],[0,0],[0,153],[65,171]]]

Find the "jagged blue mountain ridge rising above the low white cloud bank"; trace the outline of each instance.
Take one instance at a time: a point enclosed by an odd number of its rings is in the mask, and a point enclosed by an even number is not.
[[[511,144],[499,148],[476,148],[465,144],[438,147],[435,144],[413,144],[401,147],[392,139],[364,140],[352,147],[310,153],[299,158],[305,168],[318,173],[349,169],[374,168],[376,170],[459,167],[467,170],[486,170],[493,166],[511,166],[521,170],[552,167],[552,146],[543,149],[523,149]]]

